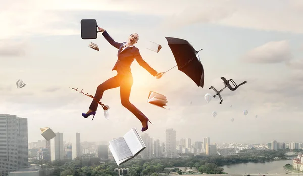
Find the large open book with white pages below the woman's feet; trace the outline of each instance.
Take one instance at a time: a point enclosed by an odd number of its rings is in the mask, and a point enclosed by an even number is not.
[[[137,156],[146,146],[137,129],[132,128],[123,137],[110,141],[109,148],[119,166]]]

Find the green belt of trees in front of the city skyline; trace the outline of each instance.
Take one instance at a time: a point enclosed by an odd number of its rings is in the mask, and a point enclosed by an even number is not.
[[[128,174],[123,174],[123,176],[224,174],[224,169],[222,168],[224,165],[269,162],[273,161],[274,157],[286,159],[284,156],[285,153],[285,151],[249,149],[228,156],[196,155],[189,158],[154,159],[140,159],[138,157],[119,166],[112,160],[100,160],[90,155],[83,156],[81,159],[49,162],[46,167],[55,168],[52,176],[117,176],[116,168],[126,168],[129,170]],[[41,161],[33,161],[32,164],[41,164]]]

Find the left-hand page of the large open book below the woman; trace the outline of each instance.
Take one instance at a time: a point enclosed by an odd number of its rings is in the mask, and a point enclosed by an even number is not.
[[[116,152],[119,161],[133,156],[124,138],[120,137],[114,139],[110,141],[110,144],[112,145],[114,151]]]

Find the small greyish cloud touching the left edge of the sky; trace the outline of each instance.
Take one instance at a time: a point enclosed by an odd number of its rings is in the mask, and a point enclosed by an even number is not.
[[[20,57],[26,54],[28,43],[25,41],[0,40],[0,56]]]

